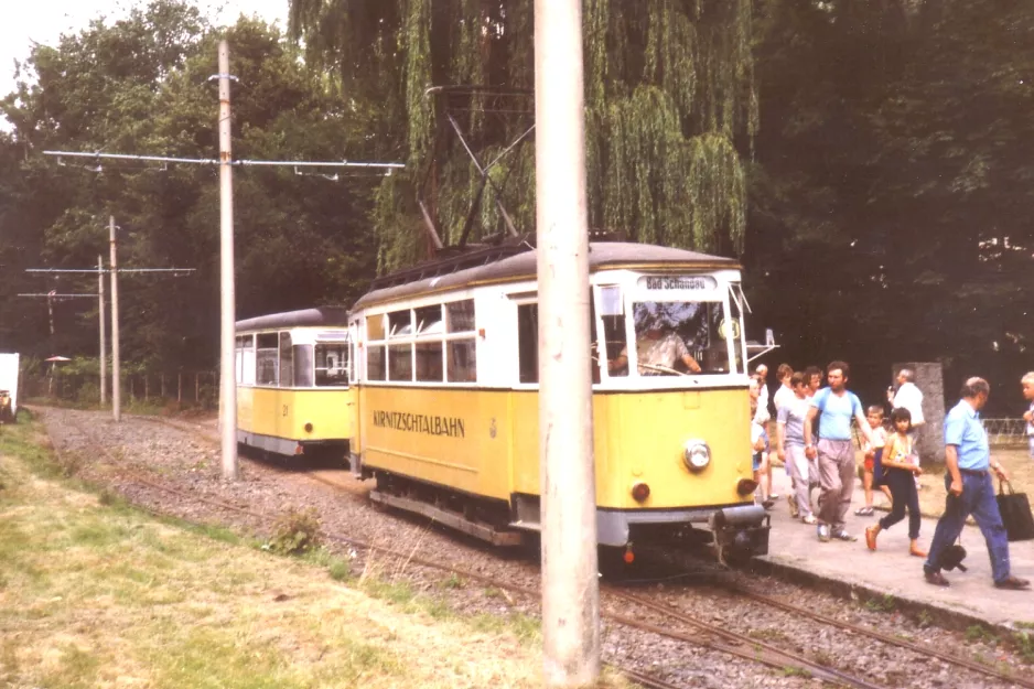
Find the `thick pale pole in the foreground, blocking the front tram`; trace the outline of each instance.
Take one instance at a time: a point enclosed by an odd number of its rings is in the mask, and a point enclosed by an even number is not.
[[[543,671],[600,675],[582,0],[535,0]]]

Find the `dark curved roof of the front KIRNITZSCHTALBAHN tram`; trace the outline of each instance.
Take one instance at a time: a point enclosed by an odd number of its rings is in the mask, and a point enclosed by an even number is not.
[[[650,271],[672,268],[696,270],[708,268],[739,269],[740,262],[723,256],[711,256],[653,244],[594,241],[589,245],[589,272],[621,268]],[[387,301],[483,283],[535,279],[537,269],[537,252],[535,249],[454,272],[435,270],[434,263],[429,263],[423,270],[408,269],[403,271],[402,274],[413,276],[413,279],[409,281],[395,281],[392,283],[391,276],[378,280],[374,283],[375,288],[385,282],[388,284],[367,292],[352,308],[364,309]]]

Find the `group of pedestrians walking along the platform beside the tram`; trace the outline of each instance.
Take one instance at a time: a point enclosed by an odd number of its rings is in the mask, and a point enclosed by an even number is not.
[[[763,410],[764,375],[756,372],[751,383],[752,442],[755,450],[755,476],[766,508],[774,504],[771,493],[771,462],[767,461],[768,413]],[[893,410],[891,429],[884,428],[882,405],[863,409],[858,396],[848,389],[850,367],[832,362],[826,368],[827,387],[820,388],[822,372],[809,367],[794,372],[783,364],[777,369],[779,389],[773,397],[776,409],[776,441],[772,454],[786,467],[793,486],[787,495],[790,515],[815,525],[818,540],[857,541],[845,527],[858,474],[854,460],[855,433],[864,440],[863,485],[865,505],[855,514],[873,514],[873,489],[888,494],[891,512],[865,529],[865,543],[876,549],[879,535],[904,520],[908,514],[909,555],[925,558],[926,581],[946,586],[941,559],[961,534],[966,518],[972,516],[983,532],[991,556],[994,585],[1022,590],[1030,582],[1013,577],[1009,567],[1009,543],[994,499],[991,472],[1008,480],[1008,472],[990,457],[988,435],[979,411],[987,403],[990,386],[982,378],[970,378],[961,390],[961,400],[945,419],[948,491],[944,516],[938,520],[929,552],[919,546],[918,476],[923,473],[916,449],[916,429],[925,423],[923,394],[915,385],[915,373],[904,368],[897,375],[897,389],[887,390]],[[1022,379],[1023,394],[1031,408],[1024,415],[1034,459],[1034,372]],[[853,424],[853,428],[852,428]],[[817,507],[811,492],[819,487]]]

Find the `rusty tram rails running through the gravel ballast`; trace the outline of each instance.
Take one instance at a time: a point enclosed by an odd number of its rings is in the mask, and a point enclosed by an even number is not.
[[[153,419],[148,419],[153,420]],[[200,428],[194,427],[193,424],[182,424],[173,423],[168,420],[160,420],[163,423],[168,423],[180,430],[195,433],[202,438],[205,438],[212,442],[216,442],[217,439],[212,438],[211,435],[204,434]],[[110,453],[101,448],[96,446],[96,452],[107,457],[112,463],[118,463]],[[320,481],[321,483],[328,484],[332,487],[341,488],[340,485],[321,481],[309,476],[309,474],[303,474],[304,476]],[[204,504],[209,507],[218,508],[226,512],[231,512],[240,515],[246,515],[263,524],[271,524],[276,516],[259,514],[251,512],[247,508],[239,507],[237,505],[231,505],[229,503],[214,499],[211,497],[200,496],[195,493],[189,493],[174,488],[168,485],[163,485],[155,481],[152,481],[150,477],[143,476],[142,474],[132,472],[132,471],[121,471],[119,473],[119,478],[121,481],[132,481],[139,485],[147,486],[151,489],[161,491],[168,494],[175,495],[177,497],[193,500],[195,503]],[[510,593],[516,593],[519,595],[525,595],[538,600],[540,593],[538,590],[532,590],[528,588],[517,586],[507,582],[498,581],[491,577],[485,577],[478,574],[477,572],[467,571],[462,568],[456,568],[450,564],[442,563],[440,561],[433,561],[429,559],[421,558],[416,556],[412,552],[401,552],[396,551],[390,548],[383,546],[375,546],[358,539],[351,538],[341,534],[325,534],[327,540],[333,542],[348,546],[352,548],[364,549],[367,551],[377,551],[383,555],[388,555],[390,557],[397,557],[409,562],[420,564],[428,569],[441,571],[449,574],[455,574],[457,577],[463,577],[472,581],[478,581],[486,586],[493,586],[499,590],[505,590]],[[723,583],[722,588],[726,589],[735,595],[740,595],[757,602],[760,604],[768,605],[784,612],[794,614],[795,616],[810,618],[815,622],[818,622],[823,625],[851,632],[861,636],[865,636],[877,640],[880,643],[908,649],[913,653],[927,656],[930,658],[936,658],[944,663],[950,664],[952,666],[965,668],[966,670],[982,675],[984,677],[993,678],[997,680],[1010,682],[1013,686],[1024,687],[1028,689],[1034,689],[1034,681],[1028,680],[1024,677],[1019,677],[1013,674],[1002,672],[993,667],[988,667],[980,665],[978,663],[968,660],[966,658],[960,658],[951,654],[935,649],[919,646],[913,644],[908,640],[890,636],[882,632],[854,625],[847,622],[841,622],[839,620],[828,617],[820,613],[785,603],[783,601],[776,600],[772,596],[767,596],[754,591],[751,591],[748,588],[739,584],[739,583]],[[623,612],[603,612],[606,610],[613,610],[614,607],[621,609]],[[637,615],[628,614],[629,611],[638,611]],[[604,585],[601,588],[601,617],[604,620],[627,626],[631,628],[636,628],[643,632],[656,634],[669,639],[677,642],[691,644],[699,647],[709,648],[715,652],[725,653],[748,661],[760,663],[768,667],[779,669],[783,671],[793,670],[796,675],[807,675],[815,679],[820,679],[837,686],[847,686],[854,687],[858,689],[883,689],[880,685],[875,685],[864,678],[859,678],[852,676],[848,672],[844,672],[836,667],[830,667],[815,660],[811,660],[805,656],[801,656],[797,653],[780,648],[774,644],[753,638],[751,636],[732,632],[726,628],[719,627],[717,625],[703,622],[699,618],[696,618],[691,615],[688,615],[677,609],[674,609],[669,605],[664,605],[657,603],[656,601],[648,600],[642,595],[629,593],[626,590],[620,590],[613,585]],[[676,685],[668,683],[660,678],[653,677],[649,675],[644,675],[636,670],[622,670],[629,679],[642,683],[646,687],[657,687],[658,689],[670,689],[676,687]]]

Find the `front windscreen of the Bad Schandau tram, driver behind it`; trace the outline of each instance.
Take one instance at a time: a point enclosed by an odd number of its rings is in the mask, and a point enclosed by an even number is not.
[[[729,372],[721,302],[637,302],[632,317],[640,376]],[[624,375],[627,364],[627,349],[623,349],[610,360],[611,375]]]

